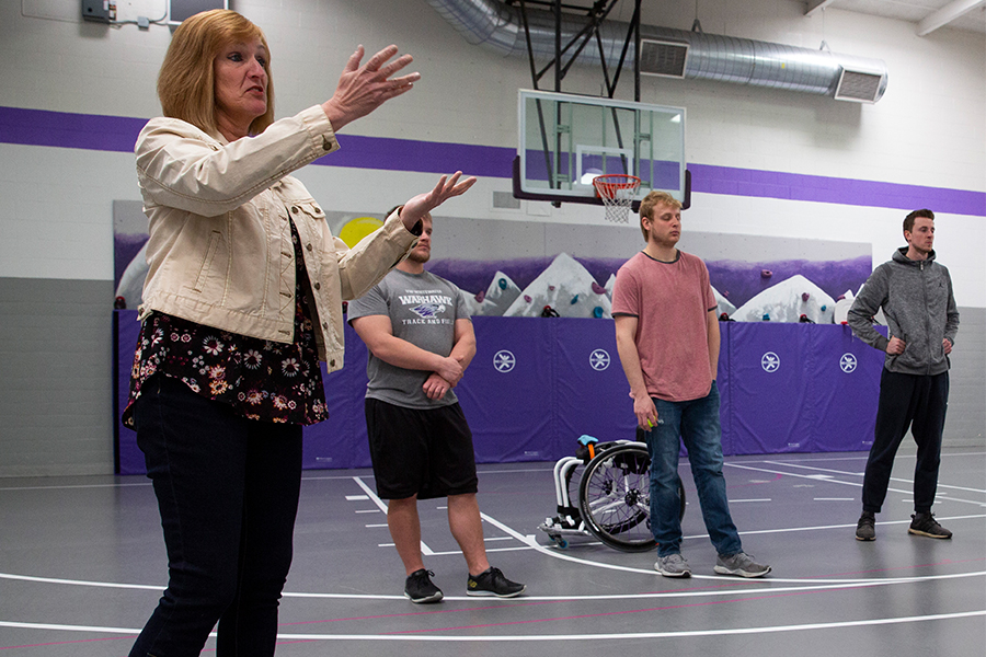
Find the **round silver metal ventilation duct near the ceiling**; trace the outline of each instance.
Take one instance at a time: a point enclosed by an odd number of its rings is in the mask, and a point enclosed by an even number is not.
[[[519,9],[500,0],[427,1],[469,43],[502,55],[527,56]],[[535,59],[552,59],[554,14],[528,10],[527,19]],[[563,13],[563,42],[571,41],[587,23],[584,16]],[[629,27],[629,23],[617,21],[606,21],[599,26],[607,62],[619,61]],[[886,65],[880,59],[652,25],[641,25],[640,35],[642,73],[750,84],[867,103],[875,103],[886,91]],[[633,66],[634,56],[632,49],[627,53],[626,66]],[[600,64],[594,39],[576,61]]]

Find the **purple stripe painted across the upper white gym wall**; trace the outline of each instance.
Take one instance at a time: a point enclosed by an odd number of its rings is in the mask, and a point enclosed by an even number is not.
[[[0,106],[0,143],[130,152],[147,119]],[[340,135],[342,149],[316,164],[508,178],[516,149]],[[731,166],[689,164],[692,191],[986,217],[986,193]]]

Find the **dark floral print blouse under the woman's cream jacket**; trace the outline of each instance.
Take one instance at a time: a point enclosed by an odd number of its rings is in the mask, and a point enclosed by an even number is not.
[[[158,372],[249,419],[311,425],[329,417],[307,298],[310,284],[294,223],[291,239],[297,263],[294,342],[248,337],[152,312],[137,338],[125,426],[134,428],[134,402]]]

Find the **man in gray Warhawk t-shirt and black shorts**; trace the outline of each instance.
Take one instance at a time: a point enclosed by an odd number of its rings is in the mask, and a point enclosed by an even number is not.
[[[366,428],[377,495],[388,500],[412,602],[443,598],[424,566],[417,516],[417,500],[435,497],[448,498],[449,529],[469,568],[466,593],[513,598],[525,586],[486,560],[472,434],[452,392],[475,355],[475,334],[459,288],[424,270],[431,250],[426,216],[408,258],[349,302],[348,321],[369,350]]]

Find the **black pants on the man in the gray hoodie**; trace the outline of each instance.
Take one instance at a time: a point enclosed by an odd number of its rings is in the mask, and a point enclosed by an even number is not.
[[[949,372],[901,374],[887,369],[880,377],[876,430],[863,477],[863,510],[880,512],[886,498],[894,457],[910,427],[917,443],[914,469],[914,510],[931,511],[941,462],[941,433],[949,405]]]

